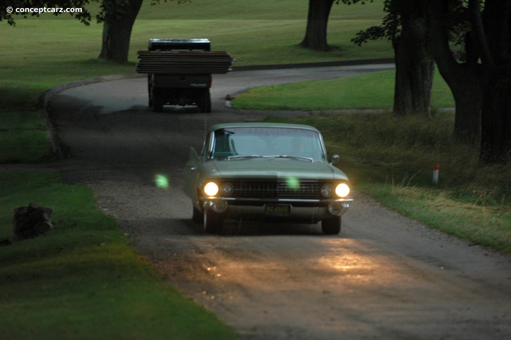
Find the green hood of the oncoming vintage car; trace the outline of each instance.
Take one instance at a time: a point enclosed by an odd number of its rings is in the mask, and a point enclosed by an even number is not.
[[[210,175],[223,178],[345,179],[346,175],[327,162],[293,158],[256,158],[254,160],[212,160]]]

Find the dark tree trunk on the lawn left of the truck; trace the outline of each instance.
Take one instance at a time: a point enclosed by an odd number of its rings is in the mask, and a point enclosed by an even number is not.
[[[128,5],[106,13],[103,23],[103,40],[99,58],[118,62],[128,61],[131,29],[143,0],[130,0]]]

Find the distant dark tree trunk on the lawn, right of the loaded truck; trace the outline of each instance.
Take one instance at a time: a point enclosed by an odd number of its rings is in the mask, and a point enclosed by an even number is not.
[[[309,0],[307,28],[300,46],[316,51],[328,51],[327,43],[328,17],[334,0]]]

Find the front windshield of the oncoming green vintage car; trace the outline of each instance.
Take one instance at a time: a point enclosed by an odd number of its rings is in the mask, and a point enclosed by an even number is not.
[[[302,128],[233,127],[215,131],[212,158],[325,158],[319,133]]]

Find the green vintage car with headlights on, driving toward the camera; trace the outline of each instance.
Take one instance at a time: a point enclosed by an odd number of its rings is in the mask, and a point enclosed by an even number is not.
[[[227,219],[321,222],[341,230],[350,207],[346,174],[327,161],[319,131],[308,125],[229,123],[211,127],[200,154],[192,147],[183,191],[193,220],[219,233]]]

